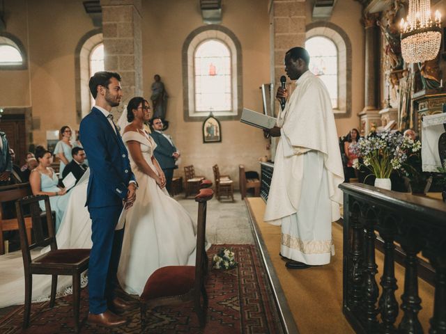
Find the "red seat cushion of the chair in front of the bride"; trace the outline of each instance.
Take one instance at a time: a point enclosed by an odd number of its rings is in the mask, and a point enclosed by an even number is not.
[[[141,301],[179,296],[194,287],[195,266],[169,266],[157,269],[148,278]]]

